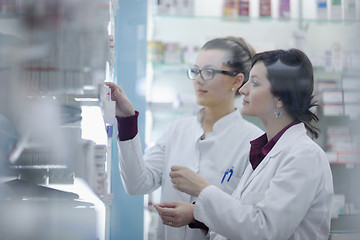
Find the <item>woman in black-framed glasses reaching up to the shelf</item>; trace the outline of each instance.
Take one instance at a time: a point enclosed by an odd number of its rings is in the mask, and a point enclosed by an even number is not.
[[[116,101],[120,172],[129,194],[148,194],[161,187],[162,202],[191,205],[196,199],[172,186],[169,172],[173,165],[192,169],[224,192],[234,191],[248,164],[249,142],[263,133],[244,120],[234,104],[237,90],[248,79],[254,52],[242,38],[216,38],[205,43],[195,65],[187,71],[202,108],[197,116],[170,124],[144,155],[137,132],[139,113],[119,86],[107,83]],[[163,207],[177,211],[175,205]],[[178,224],[159,221],[156,239],[206,239],[207,231],[200,226],[174,228]]]

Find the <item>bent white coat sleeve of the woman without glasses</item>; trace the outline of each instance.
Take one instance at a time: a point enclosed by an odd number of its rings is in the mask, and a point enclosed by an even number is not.
[[[258,198],[256,203],[244,203],[209,186],[196,201],[195,219],[232,240],[288,239],[315,198],[324,160],[316,148],[298,150],[285,157],[271,179],[262,180],[268,184],[264,192],[247,194]]]

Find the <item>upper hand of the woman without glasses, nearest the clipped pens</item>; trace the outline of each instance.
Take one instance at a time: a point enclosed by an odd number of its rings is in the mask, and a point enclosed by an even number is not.
[[[172,166],[169,175],[174,188],[195,197],[210,185],[205,178],[183,166]]]

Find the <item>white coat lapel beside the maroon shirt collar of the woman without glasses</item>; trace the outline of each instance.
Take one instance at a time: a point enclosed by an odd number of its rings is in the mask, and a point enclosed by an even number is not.
[[[285,147],[294,144],[299,137],[306,134],[306,128],[303,123],[296,124],[285,131],[285,133],[280,137],[275,146],[271,149],[271,151],[266,155],[264,160],[261,161],[259,166],[252,169],[251,164],[249,164],[243,174],[243,181],[240,183],[241,193],[246,189],[246,187],[251,183],[251,181],[265,168],[265,166],[269,163],[269,160],[276,155],[278,155]]]

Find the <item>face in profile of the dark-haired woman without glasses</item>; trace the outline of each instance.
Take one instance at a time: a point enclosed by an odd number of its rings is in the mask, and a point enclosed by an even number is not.
[[[267,78],[267,69],[262,61],[252,67],[249,80],[239,90],[243,94],[241,113],[258,117],[261,120],[273,118],[276,98],[271,93],[271,84]]]

